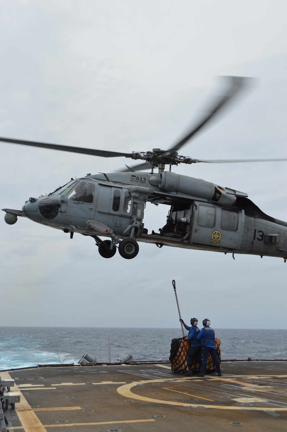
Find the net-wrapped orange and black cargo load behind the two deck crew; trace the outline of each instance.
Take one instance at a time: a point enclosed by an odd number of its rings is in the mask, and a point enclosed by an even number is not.
[[[188,372],[187,354],[189,348],[190,344],[188,340],[184,338],[172,339],[169,358],[171,363],[171,372],[177,374],[184,374]],[[218,361],[221,363],[220,339],[215,339],[215,348]],[[210,355],[208,356],[205,370],[207,373],[215,372],[215,366]],[[199,373],[199,363],[196,363],[195,357],[192,362],[192,372],[194,374]]]

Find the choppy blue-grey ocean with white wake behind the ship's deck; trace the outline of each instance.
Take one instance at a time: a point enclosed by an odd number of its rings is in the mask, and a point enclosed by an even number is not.
[[[287,359],[287,330],[214,329],[222,359]],[[186,332],[187,333],[187,332]],[[0,370],[37,364],[77,363],[84,352],[108,361],[130,353],[135,360],[166,360],[174,328],[0,327]]]

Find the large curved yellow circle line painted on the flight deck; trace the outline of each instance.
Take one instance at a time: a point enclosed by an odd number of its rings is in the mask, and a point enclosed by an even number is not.
[[[216,379],[214,377],[214,379]],[[219,378],[218,378],[219,379]],[[225,381],[225,380],[224,380]],[[163,403],[165,405],[174,405],[178,407],[204,407],[204,408],[212,408],[217,410],[234,410],[234,411],[287,411],[287,407],[237,407],[237,406],[230,406],[230,405],[199,405],[197,403],[182,403],[182,402],[173,402],[171,400],[162,400],[162,399],[153,399],[152,397],[146,397],[146,396],[140,396],[139,394],[132,393],[131,388],[135,387],[136,384],[150,384],[150,383],[156,383],[156,382],[178,382],[174,378],[169,379],[155,379],[155,380],[142,380],[142,381],[134,381],[130,384],[124,384],[117,388],[117,392],[121,394],[122,396],[126,397],[127,399],[137,399],[137,400],[143,400],[145,402],[151,402],[151,403]],[[274,404],[273,404],[274,405]]]

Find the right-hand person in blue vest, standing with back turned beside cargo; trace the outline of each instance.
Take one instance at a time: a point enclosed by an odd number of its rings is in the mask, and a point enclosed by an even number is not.
[[[205,367],[208,359],[208,355],[210,354],[218,373],[218,376],[221,377],[221,368],[217,358],[216,348],[215,348],[215,334],[213,328],[210,326],[210,321],[208,318],[205,318],[202,321],[203,328],[200,330],[199,335],[197,336],[198,340],[201,340],[202,343],[202,366],[199,371],[199,376],[204,377],[205,375]]]

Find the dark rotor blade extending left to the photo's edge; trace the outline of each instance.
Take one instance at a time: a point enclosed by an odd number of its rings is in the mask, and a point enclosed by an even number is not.
[[[125,156],[129,158],[131,153],[109,152],[107,150],[85,149],[84,147],[61,146],[60,144],[39,143],[38,141],[14,140],[11,138],[0,138],[4,143],[21,144],[24,146],[43,147],[44,149],[61,150],[63,152],[82,153],[84,155],[102,156],[104,158],[114,158]]]

